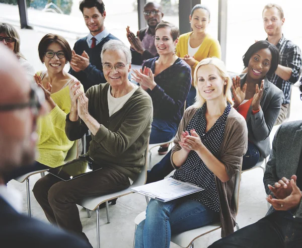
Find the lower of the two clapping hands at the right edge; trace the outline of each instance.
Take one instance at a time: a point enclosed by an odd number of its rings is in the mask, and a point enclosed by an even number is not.
[[[290,195],[284,199],[274,199],[271,195],[266,198],[275,210],[287,211],[296,208],[300,204],[302,193],[297,187],[294,179],[290,180],[290,187],[292,188],[292,191]]]

